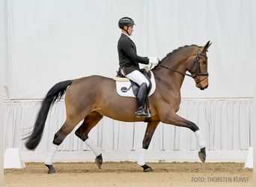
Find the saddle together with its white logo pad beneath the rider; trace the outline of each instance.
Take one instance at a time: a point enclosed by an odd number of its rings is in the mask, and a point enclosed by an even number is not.
[[[150,86],[147,90],[147,96],[150,96],[156,90],[156,82],[153,73],[148,67],[144,67],[140,70],[140,72],[143,73],[147,80],[150,82]],[[120,72],[117,73],[117,76],[113,79],[116,82],[116,90],[118,95],[136,97],[139,85],[124,77]]]

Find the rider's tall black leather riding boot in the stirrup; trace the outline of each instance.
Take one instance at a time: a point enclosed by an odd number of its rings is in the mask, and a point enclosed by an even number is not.
[[[150,116],[147,109],[144,108],[146,97],[147,97],[147,84],[142,83],[141,87],[138,89],[138,93],[137,93],[138,111],[135,112],[137,117],[148,117],[148,116]]]

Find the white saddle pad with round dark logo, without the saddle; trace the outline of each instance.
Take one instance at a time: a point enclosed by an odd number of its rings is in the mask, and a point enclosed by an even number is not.
[[[151,73],[151,89],[150,92],[148,93],[148,96],[151,96],[154,91],[156,91],[156,81],[155,81],[155,77],[153,76],[152,71],[150,71]],[[120,96],[131,96],[131,97],[136,97],[132,91],[132,87],[131,87],[131,82],[120,82],[120,81],[115,81],[116,82],[116,88],[117,88],[117,92],[118,95]],[[126,91],[126,92],[125,92]]]

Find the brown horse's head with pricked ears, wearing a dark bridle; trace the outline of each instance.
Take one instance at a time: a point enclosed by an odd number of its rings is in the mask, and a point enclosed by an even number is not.
[[[204,90],[208,87],[208,76],[207,72],[207,49],[212,43],[210,41],[205,46],[198,47],[197,53],[193,54],[186,61],[186,70],[191,73],[192,78],[195,80],[196,87]]]

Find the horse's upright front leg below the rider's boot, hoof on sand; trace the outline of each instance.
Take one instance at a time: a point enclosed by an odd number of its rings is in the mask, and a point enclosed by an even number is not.
[[[146,129],[146,132],[145,132],[145,135],[143,138],[143,143],[142,143],[142,150],[141,150],[140,156],[138,157],[138,165],[140,165],[141,168],[143,168],[144,172],[153,171],[152,168],[150,168],[148,165],[145,164],[144,156],[145,156],[147,148],[150,145],[150,141],[152,139],[153,132],[155,132],[156,126],[158,124],[159,124],[159,121],[147,123],[147,129]]]

